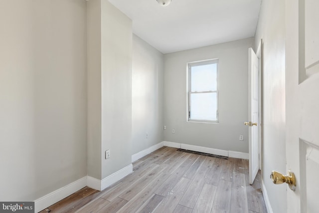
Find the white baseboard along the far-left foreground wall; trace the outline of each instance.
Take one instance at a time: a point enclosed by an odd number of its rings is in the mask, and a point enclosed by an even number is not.
[[[34,212],[40,212],[44,210],[45,208],[55,204],[58,201],[61,201],[62,199],[68,197],[69,195],[72,195],[76,191],[79,191],[80,189],[86,187],[86,176],[74,181],[71,184],[66,185],[65,187],[62,187],[58,190],[55,190],[54,192],[51,192],[37,200],[34,201]]]

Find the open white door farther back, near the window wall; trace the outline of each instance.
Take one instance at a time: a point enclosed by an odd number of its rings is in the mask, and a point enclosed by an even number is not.
[[[259,60],[256,56],[254,50],[249,48],[248,50],[248,58],[249,58],[249,96],[248,96],[248,119],[249,122],[245,122],[247,126],[249,126],[248,134],[249,134],[249,184],[253,184],[256,175],[259,170],[259,142],[258,142],[258,129],[259,129],[259,121],[258,121],[258,81],[259,81]]]

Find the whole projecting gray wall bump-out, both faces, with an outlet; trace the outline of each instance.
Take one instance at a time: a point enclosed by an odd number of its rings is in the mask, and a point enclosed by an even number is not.
[[[108,0],[87,4],[88,176],[103,180],[132,163],[132,20]]]

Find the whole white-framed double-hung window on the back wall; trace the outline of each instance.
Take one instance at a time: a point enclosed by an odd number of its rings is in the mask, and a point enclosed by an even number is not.
[[[191,62],[188,68],[188,121],[218,122],[218,59]]]

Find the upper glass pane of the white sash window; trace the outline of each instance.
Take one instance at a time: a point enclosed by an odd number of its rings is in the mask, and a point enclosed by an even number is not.
[[[191,66],[191,92],[216,91],[217,63]]]

